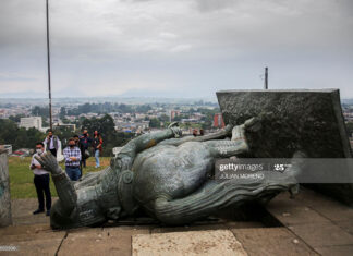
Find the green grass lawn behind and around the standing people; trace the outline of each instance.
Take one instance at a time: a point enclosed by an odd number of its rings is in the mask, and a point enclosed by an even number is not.
[[[31,157],[9,157],[9,174],[10,174],[10,193],[11,198],[36,198],[37,193],[33,183],[34,174],[29,169]],[[110,157],[100,157],[100,168],[95,168],[95,158],[87,159],[87,167],[84,168],[83,174],[87,172],[100,171],[109,166]],[[60,163],[62,170],[65,170],[64,164]],[[54,184],[50,178],[51,196],[58,196]]]

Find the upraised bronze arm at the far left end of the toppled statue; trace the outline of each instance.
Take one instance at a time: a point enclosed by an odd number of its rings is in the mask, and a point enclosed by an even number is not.
[[[59,199],[66,212],[71,212],[76,206],[77,195],[66,173],[58,164],[57,158],[50,151],[36,157],[45,170],[51,173],[52,181],[56,185]]]

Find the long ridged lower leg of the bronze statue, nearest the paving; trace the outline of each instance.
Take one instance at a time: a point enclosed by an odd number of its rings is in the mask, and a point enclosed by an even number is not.
[[[184,198],[157,198],[153,206],[154,214],[165,223],[186,224],[228,206],[238,206],[248,200],[266,202],[282,191],[292,193],[297,190],[295,176],[305,167],[305,155],[296,153],[291,163],[284,173],[275,178],[243,183],[235,180],[209,180]]]

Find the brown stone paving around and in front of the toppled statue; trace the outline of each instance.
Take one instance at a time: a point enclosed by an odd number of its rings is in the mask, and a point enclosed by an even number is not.
[[[191,227],[120,225],[52,231],[33,216],[35,199],[13,202],[14,225],[0,229],[0,255],[352,255],[353,209],[309,190],[277,196],[271,221]],[[276,223],[277,221],[277,223]],[[268,227],[272,224],[272,228]],[[1,246],[15,246],[1,252]],[[167,251],[166,251],[167,249]],[[171,254],[172,253],[172,254]]]

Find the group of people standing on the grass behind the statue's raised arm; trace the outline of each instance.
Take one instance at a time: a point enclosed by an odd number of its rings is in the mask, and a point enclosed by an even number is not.
[[[54,157],[58,156],[61,142],[52,130],[48,131],[48,135],[44,142],[36,144],[36,151],[32,157],[29,168],[34,173],[34,184],[38,197],[38,209],[33,214],[37,215],[45,212],[46,216],[50,216],[51,208],[51,193],[50,193],[50,176],[49,173],[40,166],[36,160],[36,156],[40,156],[45,151],[50,151]],[[96,159],[96,168],[100,166],[99,155],[102,149],[102,138],[98,131],[94,132],[94,136],[90,137],[86,129],[83,130],[82,135],[74,135],[69,138],[68,146],[63,149],[63,157],[65,163],[65,172],[70,180],[77,181],[83,173],[83,168],[86,168],[86,159],[90,156],[89,149]]]

